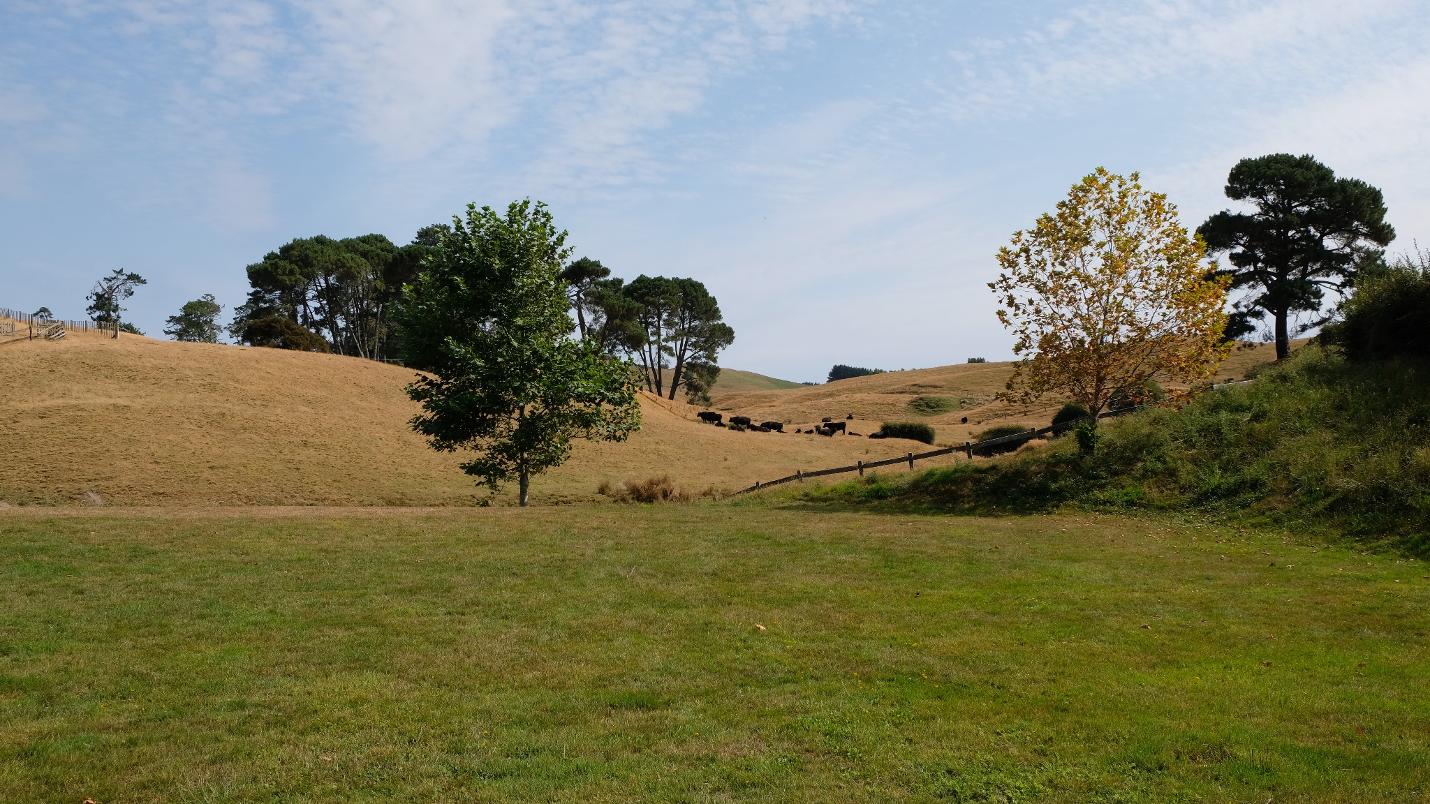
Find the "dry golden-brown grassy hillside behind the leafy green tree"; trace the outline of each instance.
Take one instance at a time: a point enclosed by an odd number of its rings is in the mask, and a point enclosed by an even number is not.
[[[336,355],[72,335],[0,346],[0,502],[469,505],[485,494],[408,429],[412,372]],[[626,443],[578,443],[538,504],[603,499],[602,481],[669,475],[691,491],[887,458],[912,442],[738,433],[682,402],[642,401]],[[500,501],[512,494],[503,492]]]

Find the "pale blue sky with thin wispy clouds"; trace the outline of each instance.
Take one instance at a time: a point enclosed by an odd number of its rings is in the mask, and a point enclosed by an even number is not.
[[[1098,166],[1194,229],[1310,153],[1430,245],[1423,0],[7,0],[0,306],[152,336],[293,237],[546,202],[616,276],[692,276],[721,363],[1010,359],[987,283]]]

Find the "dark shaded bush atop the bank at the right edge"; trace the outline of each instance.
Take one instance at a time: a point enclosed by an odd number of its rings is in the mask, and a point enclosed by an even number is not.
[[[1340,313],[1341,320],[1326,326],[1320,340],[1351,362],[1430,358],[1430,252],[1361,276]]]

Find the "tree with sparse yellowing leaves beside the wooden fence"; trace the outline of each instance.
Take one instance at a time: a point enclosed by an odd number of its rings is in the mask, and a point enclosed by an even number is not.
[[[998,320],[1018,338],[1014,353],[1031,352],[1000,396],[1060,393],[1097,415],[1154,376],[1210,376],[1231,345],[1221,342],[1227,278],[1201,265],[1205,252],[1137,173],[1085,176],[1054,213],[998,249],[1002,270],[988,283],[1002,305]]]

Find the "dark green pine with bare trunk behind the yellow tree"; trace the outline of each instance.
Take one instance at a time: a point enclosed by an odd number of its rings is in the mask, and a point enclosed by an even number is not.
[[[1248,333],[1253,320],[1270,315],[1277,359],[1291,349],[1290,318],[1320,312],[1327,290],[1344,293],[1354,285],[1357,266],[1379,263],[1396,237],[1379,189],[1338,179],[1308,155],[1243,159],[1227,176],[1226,193],[1256,206],[1251,213],[1218,212],[1197,229],[1208,253],[1228,253],[1231,268],[1224,273],[1233,290],[1248,290],[1227,333]],[[1303,332],[1320,323],[1324,319]]]

